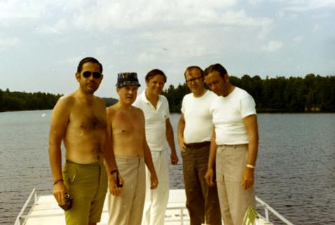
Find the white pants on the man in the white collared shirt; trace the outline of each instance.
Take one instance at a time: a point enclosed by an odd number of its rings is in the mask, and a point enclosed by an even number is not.
[[[167,150],[152,151],[152,162],[158,177],[156,189],[150,189],[150,172],[145,169],[146,187],[142,225],[164,224],[166,205],[169,201],[169,165]]]

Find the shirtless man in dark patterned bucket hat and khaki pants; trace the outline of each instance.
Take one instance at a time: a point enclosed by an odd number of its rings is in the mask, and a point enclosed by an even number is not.
[[[148,143],[143,111],[131,106],[140,86],[136,73],[119,73],[116,90],[119,101],[107,109],[108,137],[113,144],[117,167],[124,179],[120,194],[115,185],[108,195],[109,225],[141,224],[145,199],[145,165],[150,171],[151,189],[158,184]],[[113,187],[112,187],[113,188]]]

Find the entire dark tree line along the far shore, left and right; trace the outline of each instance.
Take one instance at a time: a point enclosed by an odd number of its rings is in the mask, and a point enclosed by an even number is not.
[[[335,76],[308,74],[305,78],[279,76],[261,79],[258,75],[242,78],[229,76],[230,82],[245,89],[256,102],[258,113],[335,113]],[[186,84],[170,85],[162,93],[169,100],[170,112],[180,113]],[[16,110],[48,110],[54,108],[62,94],[10,92],[0,89],[0,112]],[[117,102],[103,98],[106,106]]]

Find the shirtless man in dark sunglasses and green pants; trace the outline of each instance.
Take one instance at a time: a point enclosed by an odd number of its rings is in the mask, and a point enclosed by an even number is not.
[[[65,193],[73,197],[72,208],[65,212],[66,224],[97,224],[107,190],[104,166],[116,170],[113,151],[103,151],[106,137],[106,106],[94,96],[102,75],[102,65],[92,57],[82,59],[77,68],[79,88],[62,96],[52,110],[49,156],[53,177],[53,194],[64,205]],[[61,144],[66,163],[62,171]],[[114,186],[116,175],[109,183]]]

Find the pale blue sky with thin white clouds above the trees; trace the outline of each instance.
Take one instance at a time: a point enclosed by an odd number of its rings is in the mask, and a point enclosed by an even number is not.
[[[0,89],[70,94],[80,59],[104,66],[96,92],[117,98],[117,73],[159,68],[165,88],[187,66],[229,75],[335,75],[335,0],[0,0]]]

